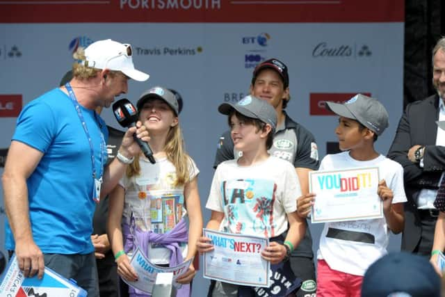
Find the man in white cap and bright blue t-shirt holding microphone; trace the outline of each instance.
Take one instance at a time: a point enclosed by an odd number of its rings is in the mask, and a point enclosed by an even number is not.
[[[138,122],[105,166],[108,131],[95,109],[127,93],[128,79],[149,76],[134,68],[131,46],[113,40],[80,53],[73,76],[27,104],[17,119],[3,172],[6,248],[25,277],[42,278],[47,266],[99,296],[90,239],[95,205],[140,151],[133,134],[149,137]]]

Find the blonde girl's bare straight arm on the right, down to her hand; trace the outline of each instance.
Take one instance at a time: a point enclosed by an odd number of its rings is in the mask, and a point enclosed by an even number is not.
[[[184,196],[186,199],[187,214],[188,214],[188,251],[186,259],[191,259],[196,254],[197,241],[202,234],[202,212],[201,212],[201,202],[200,193],[197,188],[197,177],[188,182],[184,186]],[[181,275],[177,279],[179,284],[188,284],[193,280],[196,271],[193,263],[190,264],[188,271]]]

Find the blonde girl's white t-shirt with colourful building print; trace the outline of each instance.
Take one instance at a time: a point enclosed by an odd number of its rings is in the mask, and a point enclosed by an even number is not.
[[[192,180],[200,172],[195,162],[189,158],[189,178]],[[181,218],[186,216],[184,207],[184,185],[174,186],[176,168],[168,159],[156,159],[152,164],[140,158],[140,175],[124,175],[119,184],[125,189],[124,211],[122,222],[129,223],[131,211],[136,225],[143,231],[163,234],[175,227]],[[187,245],[181,246],[182,255],[187,255]],[[131,257],[131,252],[129,253]],[[170,250],[151,245],[148,249],[150,261],[154,264],[168,264]]]

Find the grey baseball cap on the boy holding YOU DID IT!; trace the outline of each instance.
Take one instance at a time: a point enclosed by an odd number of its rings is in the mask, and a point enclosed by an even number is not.
[[[326,109],[345,118],[357,120],[364,127],[381,135],[388,127],[388,112],[377,99],[357,94],[343,104],[326,102]]]

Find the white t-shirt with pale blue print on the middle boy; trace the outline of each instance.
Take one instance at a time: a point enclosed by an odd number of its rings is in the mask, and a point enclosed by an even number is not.
[[[275,237],[287,230],[286,214],[297,209],[300,182],[292,164],[275,156],[252,166],[236,160],[216,168],[206,207],[224,213],[220,230]]]

